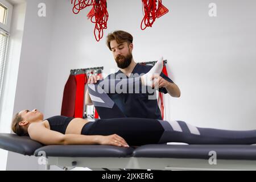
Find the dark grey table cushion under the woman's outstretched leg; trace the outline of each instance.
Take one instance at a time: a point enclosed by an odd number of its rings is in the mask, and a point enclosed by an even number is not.
[[[256,146],[234,144],[190,144],[167,145],[148,144],[133,152],[137,158],[191,158],[209,159],[210,151],[216,152],[217,159],[256,160]]]

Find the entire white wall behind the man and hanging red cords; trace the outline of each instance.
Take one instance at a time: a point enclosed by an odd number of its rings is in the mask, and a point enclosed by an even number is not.
[[[47,3],[46,18],[36,15],[39,2]],[[208,15],[212,2],[217,5],[216,18]],[[74,15],[70,1],[28,1],[14,112],[36,107],[46,118],[60,114],[70,69],[117,70],[105,37],[125,30],[134,36],[135,61],[162,55],[168,60],[169,75],[181,97],[164,97],[165,119],[201,127],[255,129],[256,2],[174,0],[163,4],[170,13],[142,31],[141,1],[109,0],[108,29],[104,39],[96,42],[93,23],[86,19],[89,9]],[[15,160],[19,159],[10,158],[9,169]]]

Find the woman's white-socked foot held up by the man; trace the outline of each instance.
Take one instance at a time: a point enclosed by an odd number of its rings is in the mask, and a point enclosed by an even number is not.
[[[160,60],[158,60],[156,62],[154,67],[152,67],[148,73],[146,73],[145,75],[143,75],[141,77],[142,85],[152,87],[152,84],[153,84],[153,81],[154,81],[154,76],[155,75],[160,75],[162,70],[163,70],[163,57],[161,57]]]

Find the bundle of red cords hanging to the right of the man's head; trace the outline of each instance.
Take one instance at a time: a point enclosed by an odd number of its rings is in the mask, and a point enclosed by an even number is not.
[[[141,22],[141,30],[145,30],[147,27],[152,27],[156,18],[160,18],[169,11],[163,6],[162,0],[158,0],[158,4],[156,0],[142,0],[142,5],[144,17]]]

